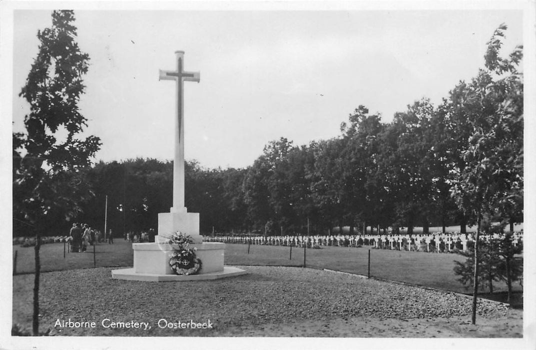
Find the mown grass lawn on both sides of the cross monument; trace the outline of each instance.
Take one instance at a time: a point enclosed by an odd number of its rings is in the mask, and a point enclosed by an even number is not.
[[[17,250],[17,273],[34,271],[33,247],[13,247]],[[247,244],[227,244],[225,249],[226,265],[263,265],[263,266],[303,266],[303,248],[251,245],[248,254]],[[323,247],[307,249],[306,266],[330,269],[348,273],[367,275],[368,250],[363,248]],[[63,243],[50,243],[41,246],[41,271],[64,271],[93,268],[93,247],[87,252],[68,253],[63,258]],[[406,282],[419,286],[444,289],[458,293],[471,293],[456,279],[453,273],[454,260],[465,258],[457,254],[438,254],[396,250],[370,249],[371,277]],[[117,239],[115,244],[100,243],[95,246],[96,267],[132,266],[133,250],[128,241]],[[514,291],[522,291],[518,283]],[[487,286],[480,290],[487,291]],[[494,283],[494,292],[506,291],[503,282]],[[518,301],[521,302],[522,301]]]

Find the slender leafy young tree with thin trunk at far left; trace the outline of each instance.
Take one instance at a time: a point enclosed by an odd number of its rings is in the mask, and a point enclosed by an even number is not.
[[[14,134],[13,210],[36,236],[33,334],[39,335],[40,237],[50,217],[72,218],[80,199],[92,192],[80,178],[100,147],[100,139],[79,139],[86,118],[78,101],[89,56],[76,43],[73,11],[54,11],[52,26],[38,32],[39,53],[20,92],[30,105],[25,135]],[[61,131],[61,132],[59,132]],[[64,134],[62,138],[61,135]],[[56,213],[56,216],[54,215]]]

